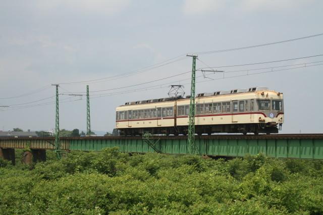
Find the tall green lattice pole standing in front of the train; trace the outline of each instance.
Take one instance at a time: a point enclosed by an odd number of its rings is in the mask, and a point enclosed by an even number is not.
[[[190,113],[188,121],[188,138],[187,138],[187,153],[198,154],[198,149],[195,144],[195,73],[196,73],[196,58],[197,55],[186,56],[193,58],[192,63],[192,80],[191,80],[191,97],[190,97]]]

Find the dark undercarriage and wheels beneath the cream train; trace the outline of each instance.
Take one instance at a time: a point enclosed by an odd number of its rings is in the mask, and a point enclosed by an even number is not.
[[[281,128],[281,124],[279,124]],[[277,124],[273,123],[250,123],[250,124],[222,124],[222,125],[195,125],[195,133],[197,135],[212,134],[212,133],[278,133]],[[173,127],[147,127],[147,128],[121,128],[120,135],[142,135],[143,133],[151,134],[174,134],[186,135],[188,126],[173,126]]]

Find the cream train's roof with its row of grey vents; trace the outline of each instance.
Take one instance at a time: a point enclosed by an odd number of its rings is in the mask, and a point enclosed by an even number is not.
[[[230,94],[237,94],[237,93],[253,93],[256,91],[267,91],[267,90],[268,90],[267,87],[251,87],[248,89],[234,89],[229,91],[216,91],[213,93],[199,93],[196,95],[196,98],[207,97],[207,96],[230,95]],[[190,96],[186,96],[185,98],[182,96],[177,96],[177,97],[160,98],[160,99],[148,99],[148,100],[141,100],[141,101],[135,101],[135,102],[126,102],[124,105],[139,105],[139,104],[149,104],[149,103],[156,103],[156,102],[168,102],[168,101],[175,101],[175,100],[189,99],[189,98]]]

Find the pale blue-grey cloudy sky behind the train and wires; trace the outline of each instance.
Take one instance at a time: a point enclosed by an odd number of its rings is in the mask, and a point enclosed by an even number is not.
[[[322,1],[1,1],[0,98],[48,86],[14,105],[53,96],[53,83],[110,77],[190,52],[256,45],[323,33]],[[245,64],[323,54],[323,36],[239,51],[199,55],[210,66]],[[321,61],[323,57],[226,68],[226,71]],[[197,67],[205,65],[197,61]],[[284,93],[284,133],[322,132],[322,65],[197,84],[196,92],[266,86]],[[191,69],[191,58],[123,79],[89,83],[90,91],[151,81]],[[198,74],[201,75],[201,74]],[[237,74],[239,75],[239,74]],[[120,92],[160,86],[190,75]],[[213,77],[214,76],[209,76]],[[198,79],[203,81],[202,78]],[[178,83],[178,82],[176,82]],[[190,86],[185,84],[186,94]],[[50,86],[50,87],[49,87]],[[61,85],[82,92],[85,85]],[[93,130],[111,131],[115,107],[127,101],[167,97],[167,88],[91,100]],[[93,93],[99,94],[99,93]],[[61,96],[69,101],[68,96]],[[71,98],[75,99],[75,98]],[[54,101],[53,98],[31,104]],[[31,105],[30,104],[30,105]],[[29,104],[24,104],[29,105]],[[24,106],[22,105],[22,106]],[[18,105],[19,106],[19,105]],[[17,107],[18,107],[17,106]],[[15,107],[15,106],[11,106]],[[0,108],[0,130],[55,127],[55,106]],[[86,100],[62,103],[61,128],[86,128]]]

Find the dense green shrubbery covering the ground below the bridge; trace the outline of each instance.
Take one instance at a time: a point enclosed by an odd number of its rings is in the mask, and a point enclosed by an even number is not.
[[[322,214],[323,162],[128,155],[116,148],[12,166],[2,214]]]

